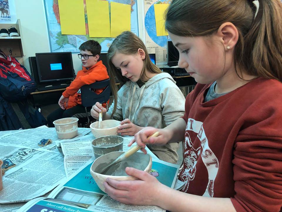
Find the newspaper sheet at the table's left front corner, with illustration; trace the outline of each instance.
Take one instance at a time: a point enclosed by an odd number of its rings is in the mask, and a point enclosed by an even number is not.
[[[2,159],[15,167],[6,170],[0,191],[0,203],[26,202],[51,191],[66,178],[63,154],[31,148],[0,145],[0,152],[10,150]],[[23,154],[20,154],[23,153]]]

